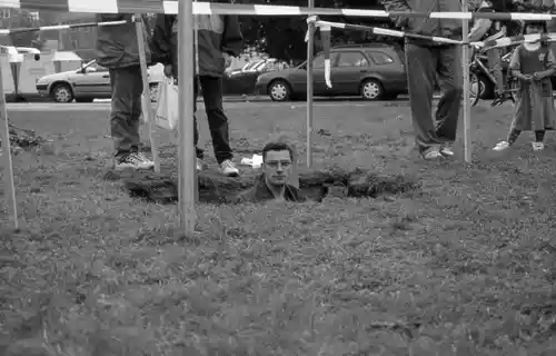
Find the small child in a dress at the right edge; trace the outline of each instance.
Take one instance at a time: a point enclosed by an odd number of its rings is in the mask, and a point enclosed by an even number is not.
[[[542,33],[545,23],[528,22],[525,33]],[[494,148],[502,151],[515,144],[522,131],[535,131],[533,150],[545,148],[546,130],[556,128],[556,111],[554,109],[553,88],[550,76],[556,72],[556,59],[550,47],[544,41],[523,43],[514,50],[509,63],[512,76],[519,80],[514,120],[508,138]]]

